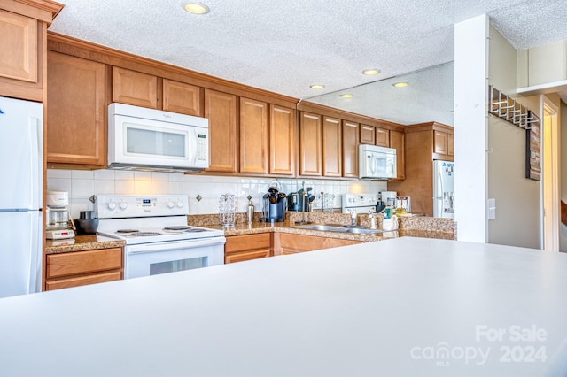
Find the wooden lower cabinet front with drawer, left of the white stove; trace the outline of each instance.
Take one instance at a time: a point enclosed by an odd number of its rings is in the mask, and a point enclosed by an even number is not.
[[[49,254],[45,264],[45,290],[78,287],[123,278],[121,248]]]

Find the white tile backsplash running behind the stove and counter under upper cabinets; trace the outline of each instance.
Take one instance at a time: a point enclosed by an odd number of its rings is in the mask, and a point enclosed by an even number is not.
[[[79,217],[80,211],[92,210],[89,197],[96,194],[161,195],[184,194],[189,196],[189,214],[219,212],[219,198],[222,194],[237,196],[237,212],[245,212],[248,195],[257,212],[262,210],[262,196],[268,192],[270,183],[276,182],[277,189],[289,194],[298,191],[302,182],[306,188],[313,188],[314,194],[321,191],[335,195],[334,207],[341,207],[341,195],[347,193],[377,193],[387,190],[384,181],[331,181],[275,178],[247,178],[182,173],[153,173],[121,170],[47,170],[47,189],[67,191],[71,217]],[[197,200],[201,196],[201,200]],[[321,208],[321,200],[315,200],[315,210]]]

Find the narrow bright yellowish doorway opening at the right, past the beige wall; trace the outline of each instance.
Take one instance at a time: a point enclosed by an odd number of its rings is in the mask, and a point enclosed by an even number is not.
[[[541,113],[543,124],[542,138],[542,249],[559,251],[559,232],[561,219],[561,204],[559,202],[559,127],[557,125],[558,108],[549,101],[547,96],[541,96]]]

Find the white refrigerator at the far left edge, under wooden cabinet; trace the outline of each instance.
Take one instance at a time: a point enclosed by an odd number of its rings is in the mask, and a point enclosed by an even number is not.
[[[0,96],[0,297],[42,285],[43,104]]]

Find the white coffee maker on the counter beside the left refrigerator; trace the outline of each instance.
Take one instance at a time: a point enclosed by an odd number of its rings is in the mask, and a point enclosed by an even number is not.
[[[45,195],[45,238],[61,240],[73,238],[74,230],[69,228],[69,193],[47,191]]]

